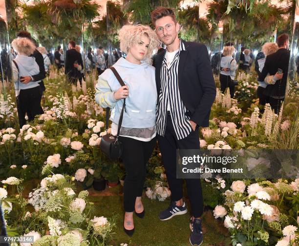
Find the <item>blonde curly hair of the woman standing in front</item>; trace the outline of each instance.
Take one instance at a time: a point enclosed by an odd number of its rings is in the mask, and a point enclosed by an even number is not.
[[[129,48],[133,44],[137,44],[141,40],[141,36],[145,35],[149,38],[149,50],[146,59],[149,59],[155,49],[159,46],[159,39],[154,30],[147,25],[124,25],[119,30],[120,48],[123,52],[128,53]]]

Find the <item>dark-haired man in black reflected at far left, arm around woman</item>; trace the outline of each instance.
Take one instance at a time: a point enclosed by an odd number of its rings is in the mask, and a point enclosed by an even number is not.
[[[29,32],[26,32],[26,31],[20,31],[17,34],[17,37],[19,37],[19,38],[27,38],[27,39],[30,39],[31,41],[33,41],[33,43],[36,43],[32,39],[31,34]],[[23,79],[21,79],[20,81],[22,83],[25,83],[25,84],[27,84],[29,82],[34,82],[34,81],[41,81],[41,82],[39,82],[39,84],[41,86],[40,89],[43,92],[43,91],[45,91],[45,86],[44,86],[44,83],[43,83],[43,79],[46,76],[45,70],[44,70],[43,55],[40,53],[40,51],[38,51],[37,49],[35,49],[35,51],[33,52],[33,54],[30,55],[30,56],[32,56],[32,57],[35,58],[36,63],[39,65],[40,73],[32,75],[32,76],[23,76]]]

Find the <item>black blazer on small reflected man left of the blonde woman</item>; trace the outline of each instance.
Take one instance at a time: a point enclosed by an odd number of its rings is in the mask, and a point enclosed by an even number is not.
[[[81,67],[83,68],[83,61],[82,61],[81,54],[73,48],[66,50],[65,62],[64,62],[64,66],[65,66],[64,73],[67,74],[69,77],[80,78],[82,75],[81,72],[76,67],[74,67],[75,61],[77,61],[78,64],[81,65]]]

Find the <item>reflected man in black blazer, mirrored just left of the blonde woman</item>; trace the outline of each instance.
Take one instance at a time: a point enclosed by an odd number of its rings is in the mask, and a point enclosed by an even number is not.
[[[82,73],[80,70],[83,68],[83,61],[81,54],[75,48],[76,43],[70,41],[68,43],[68,50],[65,52],[64,73],[66,74],[67,81],[76,85],[78,79],[80,84],[82,82]]]

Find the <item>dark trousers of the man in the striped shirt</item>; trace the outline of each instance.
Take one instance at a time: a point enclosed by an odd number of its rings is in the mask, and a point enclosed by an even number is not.
[[[176,178],[176,150],[199,149],[198,127],[187,137],[177,140],[173,129],[171,116],[167,116],[164,136],[157,135],[162,160],[166,169],[167,180],[171,189],[171,200],[179,201],[183,198],[183,179]],[[193,216],[199,217],[203,213],[203,198],[200,179],[185,179],[188,197]]]

